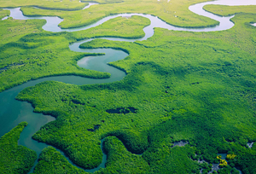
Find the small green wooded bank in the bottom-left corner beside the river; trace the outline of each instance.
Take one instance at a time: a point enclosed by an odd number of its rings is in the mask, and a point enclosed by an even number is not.
[[[26,125],[26,122],[22,122],[0,138],[1,173],[27,173],[37,159],[36,152],[26,147],[18,146],[20,133]]]

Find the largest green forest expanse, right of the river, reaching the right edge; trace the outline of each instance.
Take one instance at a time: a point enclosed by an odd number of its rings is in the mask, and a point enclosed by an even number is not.
[[[207,172],[207,164],[192,160],[195,154],[211,164],[218,163],[218,153],[229,153],[236,158],[219,172],[236,172],[236,165],[253,173],[255,148],[246,143],[256,140],[256,31],[249,25],[256,15],[237,14],[232,20],[236,25],[222,32],[156,28],[147,41],[96,39],[81,45],[126,50],[130,55],[125,60],[110,64],[128,75],[113,84],[44,82],[23,90],[17,99],[56,117],[33,138],[61,148],[85,168],[101,162],[100,140],[117,136],[130,152],[144,152],[152,172],[197,173],[201,167]],[[122,107],[137,112],[106,112]],[[88,131],[95,125],[101,126]],[[180,140],[189,145],[172,148]]]

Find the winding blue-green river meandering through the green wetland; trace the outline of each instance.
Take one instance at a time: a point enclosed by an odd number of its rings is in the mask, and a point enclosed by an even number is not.
[[[97,3],[89,3],[89,5],[86,6],[84,9],[89,8],[90,5],[96,5],[96,4]],[[143,28],[143,31],[145,32],[145,36],[143,38],[138,38],[138,39],[104,38],[108,40],[115,40],[115,41],[118,40],[118,41],[125,41],[125,42],[142,41],[152,37],[154,35],[154,27],[161,27],[161,28],[166,28],[168,30],[175,30],[175,31],[213,32],[213,31],[228,30],[232,26],[234,26],[234,23],[230,21],[230,18],[232,18],[233,16],[221,17],[215,14],[211,14],[205,11],[204,9],[202,9],[203,6],[207,4],[256,5],[256,1],[255,0],[243,0],[243,1],[219,0],[219,1],[197,3],[195,5],[191,5],[189,7],[189,10],[191,10],[195,14],[204,15],[209,18],[212,18],[213,20],[219,21],[218,26],[207,27],[207,28],[183,28],[183,27],[172,26],[167,24],[165,21],[160,20],[158,17],[150,14],[115,14],[115,15],[110,15],[108,17],[105,17],[102,20],[98,20],[96,23],[91,24],[89,26],[73,28],[73,29],[61,29],[58,25],[61,23],[62,19],[59,17],[47,17],[47,16],[27,17],[22,14],[22,12],[20,11],[20,8],[9,9],[10,10],[9,16],[17,20],[32,20],[32,19],[47,20],[47,23],[43,26],[43,29],[49,32],[64,32],[64,31],[74,32],[74,31],[86,30],[91,27],[99,26],[105,21],[116,18],[118,16],[129,17],[131,15],[140,15],[148,18],[151,21],[150,26],[146,26],[145,28]],[[5,19],[7,19],[7,17],[3,18],[3,20]],[[42,149],[47,147],[46,144],[34,141],[32,140],[31,137],[35,132],[37,132],[40,129],[41,126],[49,123],[50,121],[55,120],[55,118],[49,115],[43,115],[42,113],[33,113],[32,112],[33,107],[30,103],[19,102],[15,100],[15,96],[17,96],[21,90],[25,89],[28,86],[32,86],[47,80],[55,80],[55,81],[60,81],[67,84],[81,85],[81,84],[111,83],[111,82],[118,81],[125,78],[124,72],[120,71],[117,68],[108,66],[107,63],[110,61],[125,59],[127,54],[121,50],[116,50],[116,49],[79,49],[80,44],[83,44],[85,42],[90,42],[91,40],[93,39],[87,39],[87,40],[70,44],[69,48],[73,51],[78,51],[78,52],[106,53],[106,55],[84,57],[84,59],[78,61],[78,66],[91,69],[91,70],[100,71],[100,72],[108,72],[108,73],[111,73],[111,77],[103,78],[103,79],[82,78],[78,76],[57,76],[57,77],[49,77],[49,78],[39,78],[37,80],[32,80],[25,84],[16,86],[12,89],[3,91],[2,93],[0,93],[0,99],[1,99],[0,100],[0,127],[1,127],[0,136],[3,136],[5,133],[9,132],[21,121],[26,121],[28,125],[20,135],[19,144],[26,146],[27,148],[30,148],[32,150],[35,150],[37,154],[40,154]],[[61,154],[63,153],[61,152]],[[92,170],[84,170],[84,171],[93,172],[98,170],[100,167],[104,168],[106,160],[107,160],[107,156],[106,154],[104,154],[102,164],[100,166]],[[70,162],[72,163],[72,161]]]

